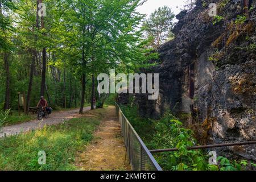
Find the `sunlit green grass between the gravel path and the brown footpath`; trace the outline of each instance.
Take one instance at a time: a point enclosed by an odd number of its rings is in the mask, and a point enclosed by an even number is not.
[[[86,118],[0,139],[0,171],[76,170],[76,154],[93,139],[104,112],[105,109],[88,111]],[[44,165],[38,164],[39,151],[46,152]]]

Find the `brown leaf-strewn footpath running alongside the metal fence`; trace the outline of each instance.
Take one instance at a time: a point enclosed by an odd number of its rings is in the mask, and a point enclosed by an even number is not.
[[[115,107],[109,106],[92,144],[76,159],[76,166],[86,171],[130,170],[125,161],[125,146],[121,138]]]

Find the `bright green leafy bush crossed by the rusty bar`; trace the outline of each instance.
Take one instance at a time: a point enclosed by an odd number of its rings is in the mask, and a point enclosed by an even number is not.
[[[174,171],[201,171],[208,169],[206,155],[200,150],[187,150],[196,144],[192,130],[182,127],[170,112],[156,122],[156,134],[151,141],[152,148],[178,148],[178,151],[156,155],[156,160],[164,169]]]

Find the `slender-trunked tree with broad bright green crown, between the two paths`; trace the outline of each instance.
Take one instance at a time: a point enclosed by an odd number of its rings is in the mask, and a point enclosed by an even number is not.
[[[82,114],[86,75],[145,61],[144,51],[138,46],[142,41],[141,31],[136,30],[143,15],[135,11],[138,0],[59,2],[64,19],[61,28],[65,30],[64,34],[61,32],[63,47],[73,57],[69,63],[78,66],[81,74]]]

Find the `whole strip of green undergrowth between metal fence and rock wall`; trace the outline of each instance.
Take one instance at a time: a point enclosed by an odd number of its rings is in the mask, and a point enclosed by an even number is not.
[[[218,156],[217,165],[209,164],[208,152],[204,150],[188,150],[196,146],[197,140],[192,130],[186,129],[170,111],[159,120],[139,117],[136,106],[121,106],[126,118],[129,119],[146,146],[152,149],[177,148],[174,152],[154,154],[156,161],[164,170],[172,171],[240,171],[247,166],[255,167],[254,163],[242,160],[230,161]]]

